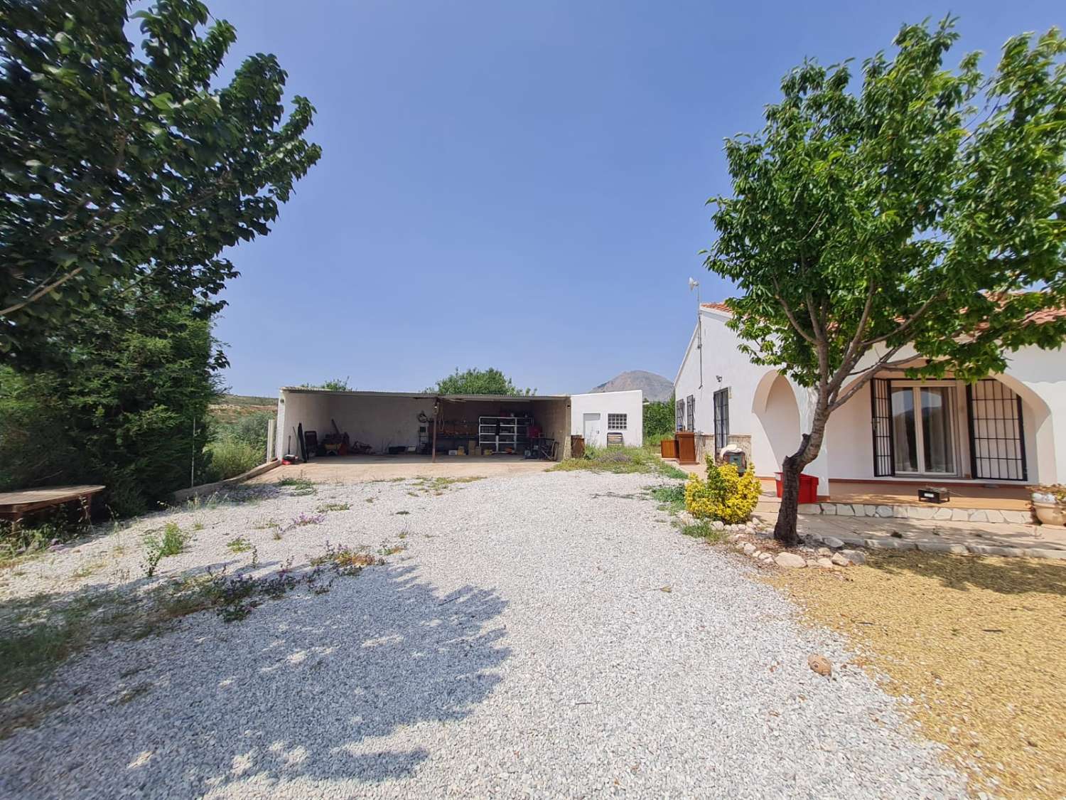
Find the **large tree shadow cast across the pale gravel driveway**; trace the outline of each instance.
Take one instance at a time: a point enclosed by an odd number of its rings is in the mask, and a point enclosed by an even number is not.
[[[91,653],[67,679],[92,700],[4,742],[0,794],[265,796],[298,781],[313,796],[306,781],[351,791],[410,775],[431,753],[375,739],[462,720],[491,693],[511,654],[491,625],[505,606],[471,586],[440,595],[413,567],[370,567],[243,621],[201,613],[126,652]],[[34,755],[60,741],[64,758]]]

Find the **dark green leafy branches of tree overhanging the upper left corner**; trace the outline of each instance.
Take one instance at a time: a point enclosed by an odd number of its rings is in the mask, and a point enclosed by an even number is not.
[[[127,39],[141,20],[140,52]],[[145,281],[206,319],[237,275],[222,251],[265,235],[321,150],[273,55],[211,80],[236,41],[198,0],[0,0],[0,353],[50,337]]]

